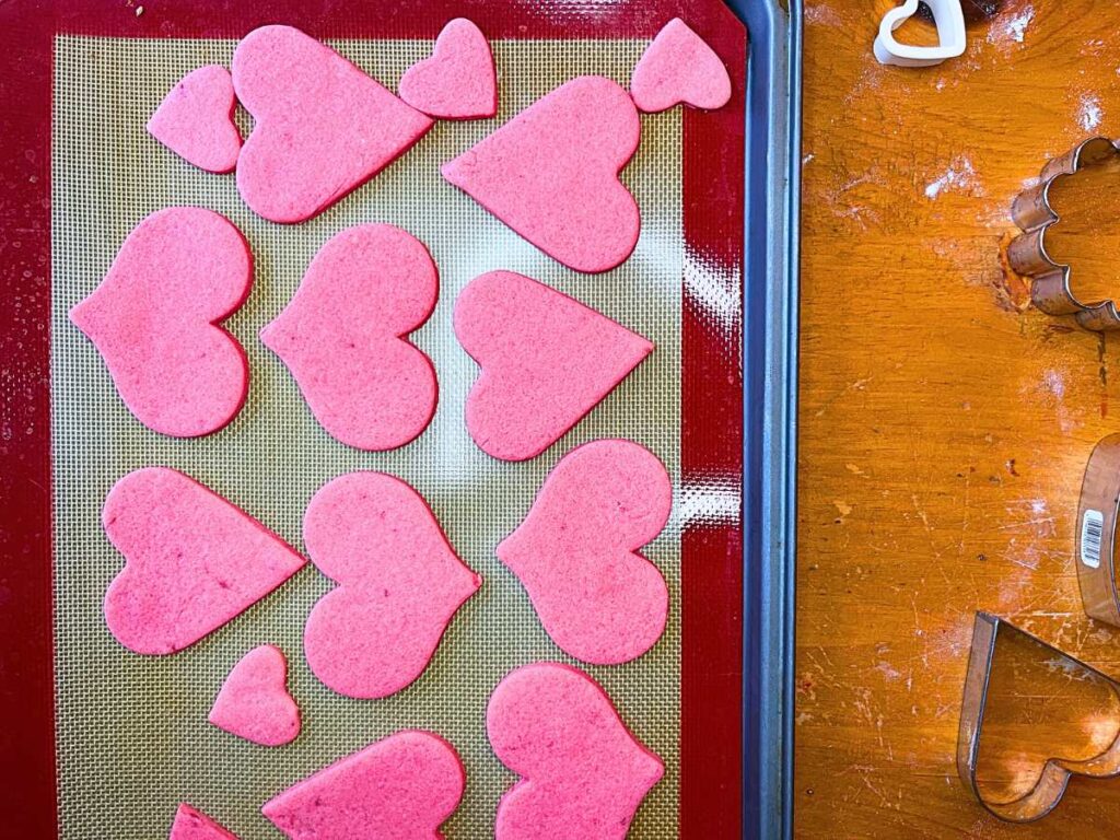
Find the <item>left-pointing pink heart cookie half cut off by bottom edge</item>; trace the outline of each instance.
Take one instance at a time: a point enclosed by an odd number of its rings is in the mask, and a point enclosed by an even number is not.
[[[465,785],[450,744],[404,730],[289,787],[261,812],[290,840],[439,840]]]

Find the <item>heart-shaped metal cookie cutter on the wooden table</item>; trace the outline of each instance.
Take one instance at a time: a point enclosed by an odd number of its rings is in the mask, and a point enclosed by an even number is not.
[[[1102,689],[1107,688],[1111,692],[1113,712],[1120,708],[1120,683],[1002,618],[987,613],[976,614],[956,739],[956,772],[990,813],[1007,822],[1033,822],[1048,814],[1062,801],[1072,776],[1105,778],[1120,774],[1120,729],[1095,755],[1047,758],[1033,786],[1014,797],[987,795],[978,774],[978,765],[984,718],[990,711],[990,689],[998,650],[1008,652],[1004,657],[1004,673],[1008,668],[1026,665],[1028,671],[1039,668],[1051,673],[1064,673],[1071,680],[1088,680]],[[1010,651],[1017,651],[1019,662],[1015,661]],[[1008,659],[1011,660],[1010,664]],[[1024,698],[1023,701],[1029,703],[1030,698]]]

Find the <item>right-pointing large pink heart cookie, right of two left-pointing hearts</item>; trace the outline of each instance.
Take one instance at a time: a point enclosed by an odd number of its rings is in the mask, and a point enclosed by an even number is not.
[[[467,398],[475,442],[504,460],[540,455],[653,349],[549,287],[492,271],[455,304],[455,334],[482,366]]]

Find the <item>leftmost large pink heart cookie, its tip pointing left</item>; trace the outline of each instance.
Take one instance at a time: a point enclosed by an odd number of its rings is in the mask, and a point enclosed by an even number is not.
[[[202,207],[169,207],[136,226],[71,320],[141,422],[180,438],[208,435],[245,401],[245,353],[217,323],[242,305],[251,281],[236,227]]]

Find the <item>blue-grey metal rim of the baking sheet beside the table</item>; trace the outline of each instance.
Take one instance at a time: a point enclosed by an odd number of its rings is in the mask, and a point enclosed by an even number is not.
[[[793,828],[802,0],[727,0],[747,25],[743,836]]]

